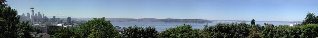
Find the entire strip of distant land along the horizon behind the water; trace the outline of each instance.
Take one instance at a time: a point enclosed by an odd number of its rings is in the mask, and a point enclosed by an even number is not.
[[[61,18],[67,19],[67,18]],[[93,18],[74,18],[72,20],[92,20]],[[167,22],[167,23],[212,23],[212,22],[250,22],[249,20],[209,20],[209,19],[155,19],[155,18],[143,18],[143,19],[129,19],[129,18],[105,18],[111,22]],[[193,21],[195,20],[195,21]],[[255,22],[278,22],[278,23],[300,23],[301,21],[255,21]]]

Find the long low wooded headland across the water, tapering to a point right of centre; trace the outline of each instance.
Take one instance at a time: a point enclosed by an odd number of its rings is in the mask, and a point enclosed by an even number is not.
[[[93,18],[81,18],[79,20],[92,20]],[[105,18],[110,21],[134,21],[134,22],[180,22],[180,23],[211,23],[212,21],[205,19],[128,19],[128,18]]]

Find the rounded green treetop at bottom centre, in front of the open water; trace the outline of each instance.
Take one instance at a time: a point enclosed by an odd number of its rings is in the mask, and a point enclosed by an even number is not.
[[[195,38],[198,37],[197,31],[192,30],[192,26],[190,24],[177,25],[176,27],[172,27],[162,31],[159,38]]]

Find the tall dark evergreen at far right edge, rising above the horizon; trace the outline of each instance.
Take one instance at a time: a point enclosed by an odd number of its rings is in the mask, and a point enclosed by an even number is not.
[[[308,12],[308,14],[305,17],[305,20],[302,21],[301,24],[305,25],[305,24],[317,24],[317,19],[315,19],[316,16],[314,13],[310,13]]]

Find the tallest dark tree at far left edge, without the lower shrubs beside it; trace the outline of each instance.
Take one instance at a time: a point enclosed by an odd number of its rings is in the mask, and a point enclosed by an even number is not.
[[[3,3],[1,3],[1,6],[2,5]],[[15,9],[11,9],[10,6],[0,8],[0,37],[20,37],[17,29],[18,23],[19,16],[17,16],[17,11]]]

